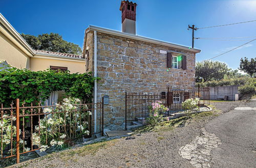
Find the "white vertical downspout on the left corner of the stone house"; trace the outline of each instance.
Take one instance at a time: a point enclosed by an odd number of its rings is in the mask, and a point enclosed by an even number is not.
[[[97,31],[94,31],[94,77],[97,77]],[[97,132],[97,80],[94,80],[94,133]]]

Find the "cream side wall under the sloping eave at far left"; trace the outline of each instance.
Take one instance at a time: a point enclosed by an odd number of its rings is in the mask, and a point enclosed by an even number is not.
[[[16,68],[30,67],[30,57],[0,32],[0,60]]]

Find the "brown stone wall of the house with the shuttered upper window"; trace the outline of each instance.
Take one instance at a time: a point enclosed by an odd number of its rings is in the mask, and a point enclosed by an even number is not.
[[[104,106],[106,128],[124,128],[125,92],[160,93],[167,91],[167,87],[195,87],[193,52],[102,33],[97,33],[97,47],[97,75],[101,77],[97,88],[98,99],[108,95],[110,100],[110,104]],[[187,69],[166,68],[167,54],[160,53],[160,50],[184,53]]]

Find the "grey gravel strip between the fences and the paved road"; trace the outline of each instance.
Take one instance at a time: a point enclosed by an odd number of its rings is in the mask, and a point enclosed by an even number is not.
[[[217,109],[223,112],[245,102],[216,102]],[[221,115],[223,116],[223,115]],[[179,155],[179,149],[201,134],[207,121],[219,120],[219,117],[208,116],[191,120],[184,127],[174,130],[147,132],[134,135],[135,139],[117,139],[112,145],[99,149],[96,153],[74,154],[63,157],[55,153],[27,163],[25,167],[193,167],[189,160]],[[209,126],[207,126],[209,128]],[[211,131],[209,131],[211,132]],[[79,148],[78,148],[79,149]],[[73,149],[73,151],[78,150]],[[71,152],[72,150],[66,150]]]

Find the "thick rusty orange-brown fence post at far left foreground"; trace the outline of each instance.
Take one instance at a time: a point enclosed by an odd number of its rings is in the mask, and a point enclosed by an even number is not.
[[[16,162],[19,163],[19,99],[16,99]]]

